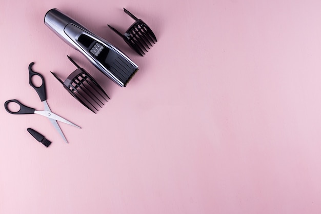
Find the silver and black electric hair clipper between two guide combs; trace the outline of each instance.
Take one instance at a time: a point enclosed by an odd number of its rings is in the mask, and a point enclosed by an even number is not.
[[[45,24],[119,86],[125,87],[138,70],[122,51],[58,9],[46,13]]]

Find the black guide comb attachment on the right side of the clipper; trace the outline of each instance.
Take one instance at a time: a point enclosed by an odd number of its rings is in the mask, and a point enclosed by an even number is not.
[[[135,23],[128,28],[124,35],[110,25],[108,25],[108,27],[110,27],[119,36],[123,37],[125,42],[133,50],[135,50],[139,55],[143,56],[145,55],[145,52],[148,52],[147,48],[150,49],[150,46],[153,46],[152,43],[155,44],[157,42],[156,36],[148,27],[148,25],[143,22],[143,20],[138,19],[125,8],[124,12],[135,20]]]

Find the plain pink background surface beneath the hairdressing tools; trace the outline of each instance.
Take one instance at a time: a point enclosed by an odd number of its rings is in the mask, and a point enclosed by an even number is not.
[[[133,20],[158,43],[141,57],[106,24]],[[321,213],[320,1],[9,1],[0,4],[0,213]],[[111,82],[44,25],[58,8],[123,50],[139,71]],[[110,95],[93,114],[65,79],[70,55]],[[52,141],[46,148],[31,127]]]

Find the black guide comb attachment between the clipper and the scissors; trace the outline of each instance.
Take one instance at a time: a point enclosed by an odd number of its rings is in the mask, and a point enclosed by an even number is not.
[[[99,108],[105,105],[104,103],[108,102],[109,96],[85,69],[79,67],[71,57],[68,56],[68,59],[77,69],[67,77],[65,82],[59,79],[55,73],[51,73],[76,100],[96,113]]]

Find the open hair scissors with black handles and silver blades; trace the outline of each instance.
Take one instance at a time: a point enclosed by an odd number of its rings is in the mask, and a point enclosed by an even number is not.
[[[57,121],[60,121],[60,122],[69,124],[69,125],[71,125],[71,126],[75,126],[75,127],[77,127],[77,128],[81,128],[81,127],[79,127],[79,126],[71,123],[70,121],[62,118],[61,116],[59,116],[59,115],[51,112],[51,110],[50,110],[50,108],[49,108],[49,106],[48,106],[48,104],[47,104],[47,101],[46,101],[46,100],[47,100],[47,95],[46,95],[45,79],[44,79],[44,77],[43,77],[41,74],[39,74],[39,73],[37,73],[37,72],[34,72],[34,71],[32,70],[32,65],[33,65],[33,64],[34,64],[34,63],[30,63],[30,65],[29,65],[29,84],[30,84],[31,87],[34,88],[35,91],[38,93],[40,100],[41,100],[41,101],[43,102],[43,104],[44,104],[45,110],[43,110],[43,111],[37,111],[37,110],[35,110],[34,108],[25,106],[24,104],[22,104],[21,102],[19,102],[19,101],[17,101],[17,100],[8,100],[8,101],[6,101],[6,102],[5,102],[5,109],[6,109],[9,113],[11,113],[11,114],[33,114],[33,113],[36,113],[36,114],[40,114],[40,115],[46,116],[46,117],[50,120],[50,122],[52,123],[52,125],[54,126],[54,128],[55,128],[55,129],[58,131],[58,133],[62,136],[62,138],[64,139],[64,141],[65,141],[66,143],[68,143],[68,142],[67,142],[67,139],[65,138],[65,135],[64,135],[63,131],[61,130],[61,128],[59,127]],[[37,76],[39,76],[39,77],[41,78],[41,80],[42,80],[42,85],[41,85],[41,86],[36,87],[36,86],[32,83],[32,76],[34,76],[34,75],[37,75]],[[12,103],[12,102],[13,102],[13,103],[16,103],[16,104],[18,104],[18,105],[20,106],[20,109],[19,109],[18,111],[14,112],[14,111],[11,111],[11,110],[8,108],[9,103]]]

